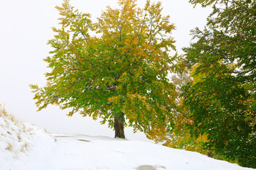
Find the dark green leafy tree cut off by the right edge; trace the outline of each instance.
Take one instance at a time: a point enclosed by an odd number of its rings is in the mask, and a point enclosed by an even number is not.
[[[242,166],[256,167],[256,2],[191,0],[213,5],[204,30],[193,30],[184,48],[194,67],[183,96],[208,148]]]

